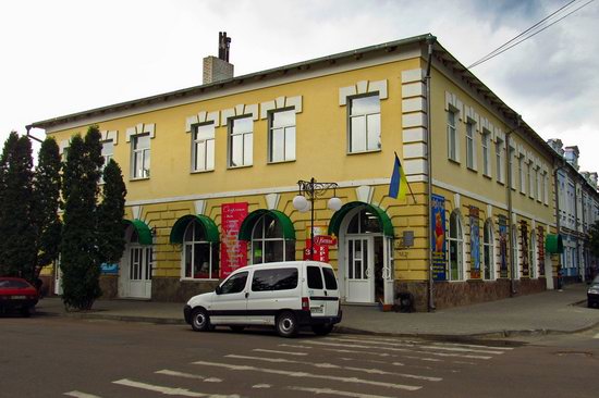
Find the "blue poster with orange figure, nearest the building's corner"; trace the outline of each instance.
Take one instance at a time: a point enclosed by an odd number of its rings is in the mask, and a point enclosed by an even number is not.
[[[432,228],[430,249],[432,251],[432,278],[447,279],[445,246],[445,198],[432,195],[430,227]]]

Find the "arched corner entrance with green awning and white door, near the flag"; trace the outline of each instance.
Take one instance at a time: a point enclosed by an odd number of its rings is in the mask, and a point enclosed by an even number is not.
[[[392,303],[393,226],[380,208],[351,202],[337,211],[329,233],[339,236],[341,296],[347,302]]]

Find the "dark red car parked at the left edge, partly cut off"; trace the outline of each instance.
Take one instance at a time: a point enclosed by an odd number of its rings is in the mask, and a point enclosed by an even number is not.
[[[39,294],[27,281],[20,277],[0,277],[0,313],[19,311],[29,316]]]

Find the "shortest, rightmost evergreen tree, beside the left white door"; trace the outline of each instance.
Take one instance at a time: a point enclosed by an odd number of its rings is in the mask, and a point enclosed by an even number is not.
[[[119,262],[125,250],[123,217],[126,188],[121,167],[110,160],[103,170],[102,202],[98,207],[98,234],[101,261]]]

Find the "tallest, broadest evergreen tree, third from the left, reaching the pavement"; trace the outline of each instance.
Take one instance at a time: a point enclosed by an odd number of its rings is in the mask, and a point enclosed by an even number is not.
[[[98,241],[98,182],[101,157],[100,132],[87,130],[85,140],[71,140],[63,173],[64,226],[61,245],[62,300],[66,308],[90,309],[100,297]]]

